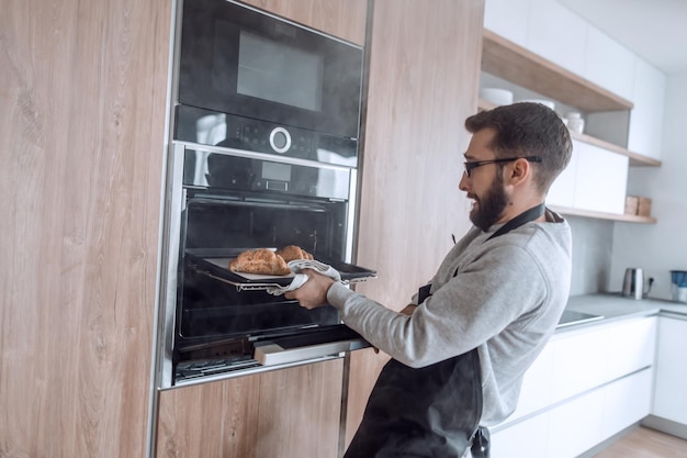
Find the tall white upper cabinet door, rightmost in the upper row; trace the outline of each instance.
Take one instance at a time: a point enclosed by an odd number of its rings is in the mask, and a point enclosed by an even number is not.
[[[666,78],[655,67],[637,58],[628,149],[661,158]]]

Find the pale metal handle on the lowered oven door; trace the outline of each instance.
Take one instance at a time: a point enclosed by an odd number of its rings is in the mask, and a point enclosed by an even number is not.
[[[256,344],[254,358],[262,366],[277,366],[330,357],[344,351],[353,351],[370,347],[370,344],[362,337],[295,347],[288,345],[288,340],[289,339],[285,338],[283,342],[272,340]]]

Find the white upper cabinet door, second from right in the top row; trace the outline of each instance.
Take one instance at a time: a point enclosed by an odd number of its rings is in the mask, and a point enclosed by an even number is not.
[[[589,81],[632,100],[634,94],[634,54],[589,25],[585,41],[583,76]]]

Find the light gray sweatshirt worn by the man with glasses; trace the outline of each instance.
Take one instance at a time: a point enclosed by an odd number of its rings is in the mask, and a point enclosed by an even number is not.
[[[478,347],[483,426],[515,411],[522,376],[553,334],[571,281],[571,230],[560,215],[547,211],[545,223],[487,241],[499,227],[471,228],[441,262],[432,295],[409,316],[340,283],[327,294],[346,325],[407,366]]]

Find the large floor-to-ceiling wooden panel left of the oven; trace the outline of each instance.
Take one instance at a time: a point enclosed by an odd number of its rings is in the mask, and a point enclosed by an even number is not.
[[[0,456],[146,449],[171,1],[0,15]]]

